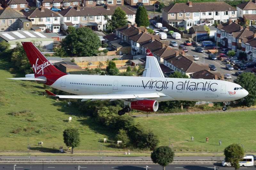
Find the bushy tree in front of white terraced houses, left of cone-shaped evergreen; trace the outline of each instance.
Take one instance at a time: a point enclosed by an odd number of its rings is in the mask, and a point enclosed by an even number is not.
[[[116,28],[127,24],[126,13],[120,7],[115,9],[114,13],[111,15],[111,19],[108,18],[108,15],[105,15],[104,17],[107,20],[108,32],[113,32]]]

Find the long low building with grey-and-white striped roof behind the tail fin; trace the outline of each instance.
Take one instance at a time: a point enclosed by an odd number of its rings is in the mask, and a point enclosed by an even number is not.
[[[41,49],[53,48],[53,39],[46,35],[44,32],[36,31],[11,31],[11,32],[0,32],[0,41],[6,41],[11,45],[11,48],[16,47],[16,43],[34,41],[39,43]]]

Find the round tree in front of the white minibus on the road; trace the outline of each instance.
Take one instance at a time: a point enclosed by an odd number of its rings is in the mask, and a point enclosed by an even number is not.
[[[244,151],[238,144],[232,144],[224,149],[225,161],[230,162],[235,169],[240,168],[239,160],[243,158]]]

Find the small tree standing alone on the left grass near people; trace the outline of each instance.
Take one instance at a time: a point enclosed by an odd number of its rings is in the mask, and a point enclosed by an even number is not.
[[[63,139],[66,146],[72,147],[72,154],[73,154],[74,147],[77,147],[80,145],[78,129],[75,129],[75,128],[65,129],[65,131],[63,131]]]

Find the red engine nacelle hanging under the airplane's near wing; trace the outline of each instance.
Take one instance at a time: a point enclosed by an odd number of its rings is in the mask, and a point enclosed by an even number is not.
[[[156,100],[137,100],[130,103],[130,108],[140,111],[156,111],[158,102]]]

